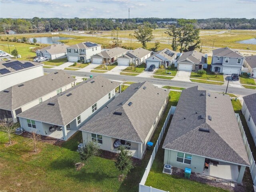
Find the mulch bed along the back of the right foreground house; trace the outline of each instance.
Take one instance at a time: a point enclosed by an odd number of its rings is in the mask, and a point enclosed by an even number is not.
[[[184,178],[184,170],[178,169],[178,168],[172,168],[172,175]],[[229,190],[230,192],[246,192],[246,187],[241,184],[234,183],[235,187],[232,187],[230,186],[230,182],[228,181],[225,182],[220,180],[220,182],[216,182],[215,178],[210,178],[210,177],[206,178],[194,172],[191,172],[190,180],[197,181],[200,183],[205,183],[214,187],[220,187],[222,189]]]

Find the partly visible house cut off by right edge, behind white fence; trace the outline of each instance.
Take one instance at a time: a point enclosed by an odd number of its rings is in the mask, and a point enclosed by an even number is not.
[[[256,146],[256,93],[243,97],[242,113],[252,134]]]

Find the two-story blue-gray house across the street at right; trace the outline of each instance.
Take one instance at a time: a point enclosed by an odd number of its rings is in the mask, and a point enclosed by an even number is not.
[[[231,48],[219,48],[212,50],[212,72],[227,75],[241,74],[244,56]]]

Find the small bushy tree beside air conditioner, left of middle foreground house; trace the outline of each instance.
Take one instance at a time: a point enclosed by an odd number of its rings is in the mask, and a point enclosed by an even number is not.
[[[90,141],[88,142],[83,148],[82,150],[79,150],[79,154],[80,154],[80,159],[82,162],[85,161],[90,161],[90,159],[93,156],[96,156],[100,153],[100,147],[98,145],[98,143]],[[82,163],[81,162],[81,163]]]

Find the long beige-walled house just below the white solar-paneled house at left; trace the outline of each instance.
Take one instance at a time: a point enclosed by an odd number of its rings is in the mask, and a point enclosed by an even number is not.
[[[58,70],[2,90],[0,119],[17,122],[18,114],[71,88],[75,81],[63,70]]]

